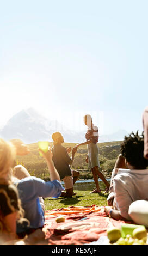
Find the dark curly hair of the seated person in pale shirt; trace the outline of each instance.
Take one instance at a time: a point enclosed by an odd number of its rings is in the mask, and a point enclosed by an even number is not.
[[[137,131],[135,134],[132,132],[128,137],[125,136],[121,144],[121,154],[135,169],[146,169],[148,166],[148,160],[144,158],[143,152],[144,133],[139,135]]]

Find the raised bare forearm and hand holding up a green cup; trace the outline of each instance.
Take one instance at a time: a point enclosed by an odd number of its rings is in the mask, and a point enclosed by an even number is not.
[[[44,151],[42,151],[41,149],[39,149],[39,151],[42,153],[43,157],[46,159],[48,170],[50,172],[51,181],[53,181],[53,180],[60,181],[60,176],[52,162],[53,154],[52,154],[51,148],[48,148],[48,151],[46,153]]]

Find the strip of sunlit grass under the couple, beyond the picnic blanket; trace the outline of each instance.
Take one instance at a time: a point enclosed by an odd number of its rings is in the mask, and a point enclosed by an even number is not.
[[[108,194],[103,193],[94,193],[90,194],[90,191],[74,191],[76,196],[72,198],[62,198],[59,197],[57,199],[53,198],[45,198],[45,209],[52,210],[57,208],[66,208],[71,205],[73,206],[91,206],[95,204],[96,206],[107,205],[107,197]]]

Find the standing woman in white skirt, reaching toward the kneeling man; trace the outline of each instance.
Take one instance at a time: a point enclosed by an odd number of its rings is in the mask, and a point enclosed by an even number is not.
[[[97,126],[94,126],[94,124],[92,123],[91,115],[84,116],[84,123],[88,126],[88,131],[85,135],[87,141],[85,141],[84,143],[77,144],[75,147],[78,148],[81,145],[87,145],[88,147],[87,160],[96,184],[95,190],[91,191],[90,193],[101,192],[100,186],[98,184],[98,177],[104,182],[104,184],[106,184],[106,191],[104,192],[106,193],[109,190],[110,184],[99,170],[100,162],[98,159],[98,147],[96,144],[98,142],[98,128]]]

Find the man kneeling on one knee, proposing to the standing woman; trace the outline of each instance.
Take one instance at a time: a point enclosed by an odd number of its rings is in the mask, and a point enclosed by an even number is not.
[[[52,139],[52,160],[55,168],[59,173],[60,179],[64,181],[66,190],[66,192],[61,193],[61,197],[72,197],[75,195],[75,193],[73,193],[73,184],[75,184],[76,180],[78,179],[79,172],[77,172],[76,170],[71,170],[69,164],[72,164],[77,149],[73,148],[72,157],[70,157],[69,153],[71,151],[71,148],[66,149],[61,145],[62,143],[64,143],[64,139],[61,133],[53,133]]]

